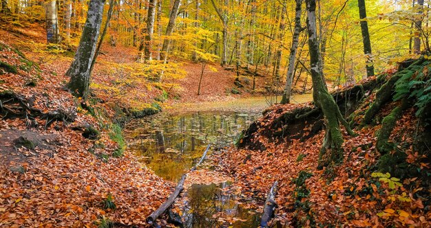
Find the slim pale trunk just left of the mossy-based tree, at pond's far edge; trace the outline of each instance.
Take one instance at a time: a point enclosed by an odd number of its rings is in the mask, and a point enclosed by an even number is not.
[[[302,0],[296,0],[295,7],[295,29],[293,31],[291,54],[289,54],[289,65],[287,68],[286,86],[284,87],[284,93],[282,96],[282,104],[288,104],[291,102],[291,91],[293,82],[293,70],[295,69],[295,58],[296,51],[299,43],[299,33],[301,32],[301,5]]]

